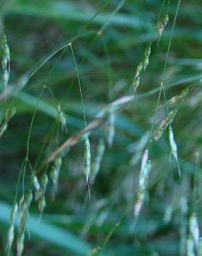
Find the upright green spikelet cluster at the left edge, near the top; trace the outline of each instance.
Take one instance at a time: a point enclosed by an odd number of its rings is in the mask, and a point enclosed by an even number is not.
[[[2,61],[1,61],[1,66],[3,69],[3,85],[6,88],[8,86],[8,80],[9,80],[9,75],[10,75],[10,49],[8,47],[8,42],[6,39],[6,35],[3,35],[2,37],[2,42],[1,42],[1,47],[2,47]]]

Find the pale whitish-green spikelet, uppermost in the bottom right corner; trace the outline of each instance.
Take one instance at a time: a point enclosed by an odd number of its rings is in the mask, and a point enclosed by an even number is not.
[[[194,241],[194,248],[198,251],[199,248],[199,224],[196,218],[196,214],[193,212],[189,221],[190,235]]]

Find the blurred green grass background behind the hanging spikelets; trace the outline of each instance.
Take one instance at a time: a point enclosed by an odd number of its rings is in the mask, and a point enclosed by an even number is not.
[[[6,255],[15,199],[19,201],[30,188],[35,196],[31,182],[35,171],[40,182],[45,171],[49,177],[46,207],[39,217],[38,203],[33,199],[30,204],[23,255],[187,255],[189,234],[190,244],[193,238],[189,219],[195,214],[201,221],[202,3],[181,1],[176,15],[178,3],[1,0],[1,37],[5,33],[10,48],[7,89],[0,82],[1,131],[6,109],[16,109],[0,138],[1,255]],[[159,40],[156,21],[165,15],[169,21]],[[149,65],[133,93],[136,67],[149,42]],[[172,99],[167,107],[162,80],[167,102]],[[182,97],[184,89],[189,92]],[[125,98],[129,95],[134,98]],[[91,177],[90,199],[84,175],[84,109],[86,125],[93,122],[95,128],[87,130],[91,170],[95,163],[100,165],[98,174]],[[175,159],[169,161],[169,128],[158,140],[153,136],[167,111],[176,111],[172,130],[181,177]],[[131,232],[149,134],[152,168]],[[67,147],[57,155],[62,156],[62,167],[54,192],[50,177],[54,157],[50,156],[66,140]],[[98,156],[99,143],[102,157]],[[19,221],[10,255],[16,255]],[[197,240],[197,226],[194,234]]]

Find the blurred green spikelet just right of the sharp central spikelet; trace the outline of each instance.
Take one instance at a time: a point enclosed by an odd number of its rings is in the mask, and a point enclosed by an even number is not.
[[[96,150],[95,150],[95,159],[93,161],[92,170],[91,170],[92,183],[95,180],[95,177],[97,176],[97,174],[100,170],[100,163],[102,161],[104,149],[105,149],[104,140],[101,139],[98,143]]]

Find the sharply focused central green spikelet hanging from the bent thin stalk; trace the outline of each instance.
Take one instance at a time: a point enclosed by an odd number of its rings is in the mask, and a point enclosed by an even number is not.
[[[90,185],[91,182],[91,144],[89,137],[84,140],[84,174],[86,176],[86,184]],[[90,187],[89,187],[89,197],[90,197]]]

